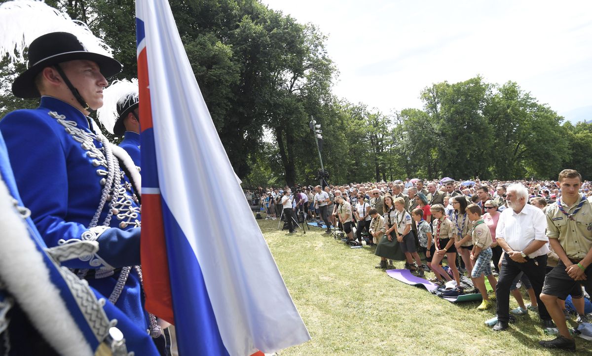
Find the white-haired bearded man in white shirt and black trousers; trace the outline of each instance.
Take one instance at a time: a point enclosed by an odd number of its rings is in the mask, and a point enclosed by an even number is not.
[[[520,272],[524,272],[535,290],[543,327],[552,328],[551,316],[539,298],[549,252],[545,215],[542,210],[527,204],[528,190],[521,184],[509,186],[506,198],[509,209],[500,214],[496,228],[496,240],[506,254],[496,287],[498,321],[493,329],[508,328],[510,286]]]

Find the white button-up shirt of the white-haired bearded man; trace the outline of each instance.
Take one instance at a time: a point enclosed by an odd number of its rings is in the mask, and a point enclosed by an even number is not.
[[[523,251],[533,240],[546,241],[545,214],[539,208],[526,204],[520,213],[508,208],[500,213],[497,222],[496,238],[503,238],[514,251]],[[529,254],[529,258],[545,255],[549,252],[548,244]]]

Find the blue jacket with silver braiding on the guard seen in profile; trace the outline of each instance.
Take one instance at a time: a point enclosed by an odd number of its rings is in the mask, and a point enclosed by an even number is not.
[[[56,119],[50,112],[64,117]],[[83,137],[70,134],[76,129]],[[22,202],[31,210],[31,218],[47,246],[79,240],[84,238],[83,234],[88,237],[88,226],[101,200],[104,184],[101,180],[106,176],[107,163],[96,154],[102,143],[89,130],[86,116],[59,99],[44,96],[37,109],[6,115],[0,121],[0,131]],[[124,181],[128,181],[127,177]],[[104,238],[97,240],[96,255],[68,261],[67,267],[96,270],[139,264],[139,234],[134,234],[139,232],[136,229],[140,225],[139,206],[126,186],[122,184],[118,189],[123,194],[114,206],[120,209],[117,215],[112,215],[110,226],[121,227],[129,234],[104,234]],[[100,214],[99,225],[110,209],[108,202]],[[117,277],[116,271],[110,277],[89,278],[89,284],[104,296],[110,296]],[[142,299],[139,277],[132,271],[115,306],[145,330],[147,320]]]

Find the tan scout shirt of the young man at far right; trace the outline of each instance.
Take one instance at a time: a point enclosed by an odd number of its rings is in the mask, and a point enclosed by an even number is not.
[[[563,209],[567,213],[573,213],[580,204],[581,198],[572,205],[567,206],[563,203]],[[572,219],[568,218],[553,203],[547,208],[547,237],[556,238],[559,244],[567,254],[567,257],[574,260],[580,260],[592,248],[592,204],[590,200],[585,200],[584,205]]]

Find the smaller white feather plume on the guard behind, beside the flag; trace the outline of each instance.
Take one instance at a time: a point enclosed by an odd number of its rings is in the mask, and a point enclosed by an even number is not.
[[[113,134],[113,127],[119,116],[117,104],[126,101],[130,94],[134,98],[138,97],[138,80],[136,78],[131,81],[127,79],[114,80],[110,86],[103,90],[103,106],[96,111],[96,118],[111,134]]]

